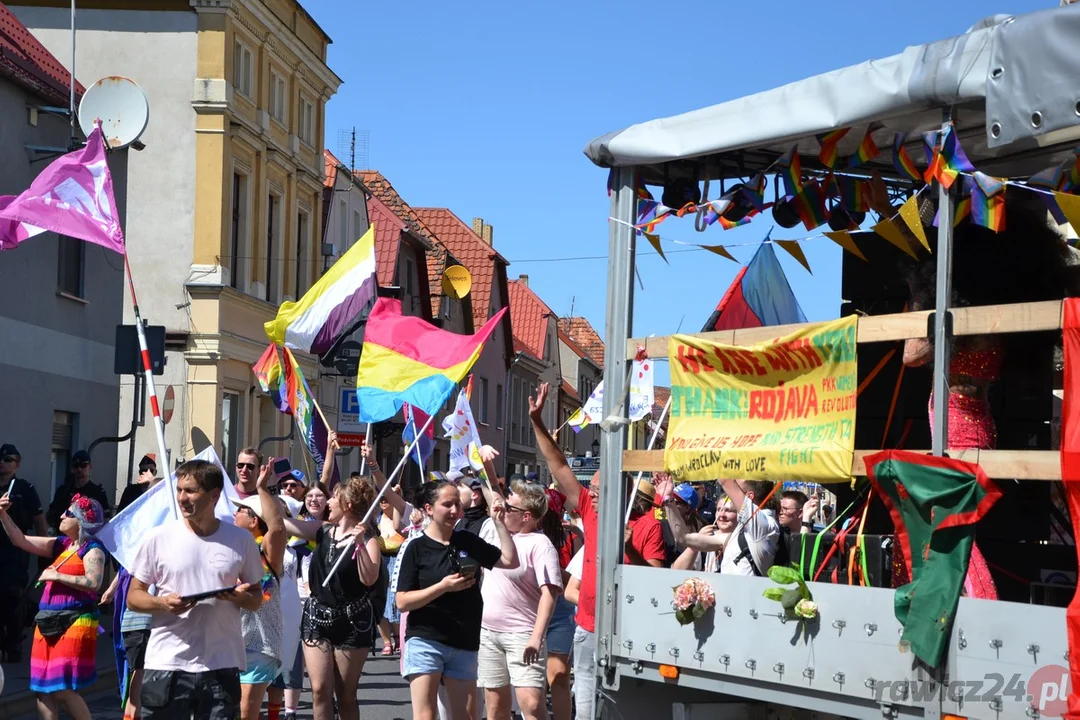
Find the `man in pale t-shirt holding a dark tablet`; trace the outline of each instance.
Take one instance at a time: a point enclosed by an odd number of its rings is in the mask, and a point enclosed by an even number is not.
[[[131,569],[127,608],[152,615],[144,720],[240,718],[240,671],[246,667],[240,610],[262,603],[264,571],[252,533],[215,517],[224,488],[217,465],[180,465],[181,519],[147,533]],[[148,592],[151,585],[156,595]]]

